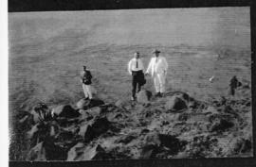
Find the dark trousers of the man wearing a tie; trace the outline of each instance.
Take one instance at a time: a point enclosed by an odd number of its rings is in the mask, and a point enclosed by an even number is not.
[[[139,70],[139,71],[132,71],[132,75],[133,75],[132,94],[133,94],[133,97],[135,97],[136,92],[139,92],[141,89],[141,86],[142,86],[141,80],[144,78],[144,74],[143,74],[142,70]]]

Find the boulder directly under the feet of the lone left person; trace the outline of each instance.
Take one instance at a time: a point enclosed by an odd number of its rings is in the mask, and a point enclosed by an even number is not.
[[[104,102],[101,99],[84,99],[82,98],[78,103],[77,103],[77,108],[78,109],[90,109],[94,107],[99,107],[103,105]]]

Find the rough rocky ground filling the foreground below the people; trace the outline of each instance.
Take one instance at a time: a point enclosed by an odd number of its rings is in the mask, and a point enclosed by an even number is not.
[[[144,93],[144,94],[142,94]],[[171,159],[252,154],[249,96],[195,101],[187,93],[104,104],[82,99],[77,107],[53,109],[39,122],[17,117],[27,136],[27,160]],[[143,96],[143,97],[142,97]],[[140,98],[140,97],[139,97]],[[150,103],[144,106],[143,103]],[[192,107],[191,102],[194,102]],[[63,119],[63,117],[65,117]]]

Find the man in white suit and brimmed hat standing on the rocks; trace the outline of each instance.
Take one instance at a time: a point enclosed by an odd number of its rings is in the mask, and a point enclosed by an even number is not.
[[[154,79],[155,85],[155,96],[161,97],[165,92],[165,81],[168,70],[168,63],[166,58],[160,56],[160,51],[154,50],[153,54],[154,58],[151,58],[148,69],[146,71],[146,75],[151,72],[151,75]]]

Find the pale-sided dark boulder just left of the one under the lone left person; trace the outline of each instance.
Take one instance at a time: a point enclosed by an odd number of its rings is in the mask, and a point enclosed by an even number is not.
[[[77,118],[81,114],[73,109],[70,105],[62,105],[58,106],[57,108],[53,109],[52,112],[56,114],[58,117],[63,118]]]

